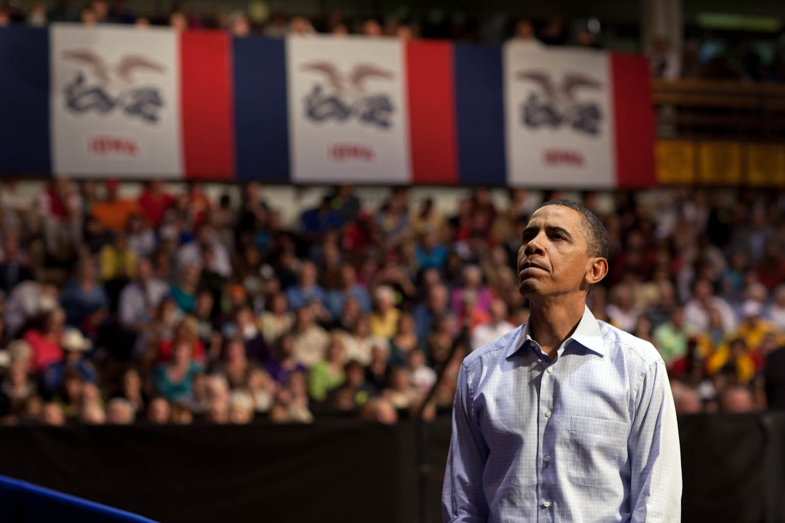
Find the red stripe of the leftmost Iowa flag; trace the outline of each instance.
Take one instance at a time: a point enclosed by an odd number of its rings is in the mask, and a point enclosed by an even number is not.
[[[234,176],[230,45],[223,32],[181,33],[181,121],[187,178]]]

